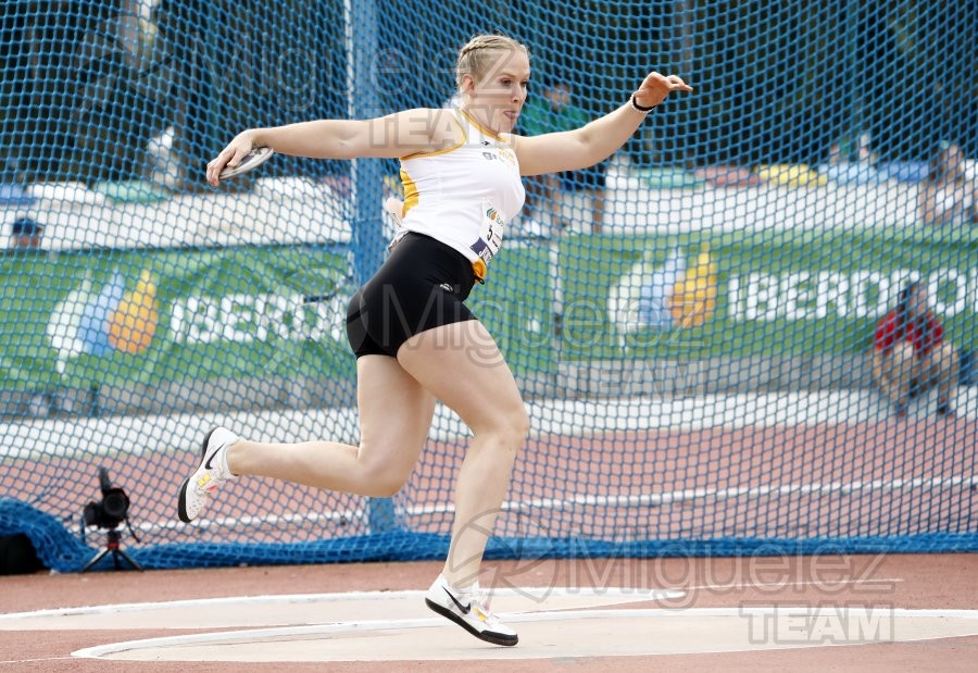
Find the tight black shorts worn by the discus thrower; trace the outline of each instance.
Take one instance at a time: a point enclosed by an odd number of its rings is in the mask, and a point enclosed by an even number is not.
[[[347,307],[347,340],[358,358],[398,357],[401,345],[434,327],[476,320],[462,303],[475,273],[460,252],[422,234],[394,246]]]

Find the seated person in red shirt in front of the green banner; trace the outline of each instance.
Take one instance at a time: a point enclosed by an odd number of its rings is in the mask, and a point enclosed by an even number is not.
[[[927,288],[917,282],[900,292],[896,308],[876,325],[873,377],[906,415],[912,397],[938,388],[938,415],[954,414],[957,350],[944,340],[944,329],[927,308]]]

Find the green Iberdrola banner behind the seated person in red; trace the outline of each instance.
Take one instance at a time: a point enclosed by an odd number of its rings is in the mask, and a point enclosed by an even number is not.
[[[580,236],[561,244],[568,360],[867,349],[910,279],[975,342],[978,236],[930,230]]]

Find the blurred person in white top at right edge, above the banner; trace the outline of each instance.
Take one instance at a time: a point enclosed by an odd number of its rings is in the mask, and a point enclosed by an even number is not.
[[[956,142],[941,141],[931,154],[927,178],[917,196],[924,224],[978,224],[978,192],[965,174],[965,157]]]

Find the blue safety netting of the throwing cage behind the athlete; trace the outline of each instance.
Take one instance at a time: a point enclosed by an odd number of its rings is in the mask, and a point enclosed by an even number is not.
[[[976,550],[978,5],[510,5],[3,3],[0,535],[80,569],[105,466],[147,568],[442,558],[467,441],[443,409],[393,499],[253,478],[177,522],[214,424],[358,440],[346,304],[400,188],[387,160],[203,170],[242,128],[450,104],[457,47],[503,32],[532,54],[527,135],[649,68],[697,91],[528,179],[473,294],[534,424],[487,558]],[[875,381],[912,279],[953,417]]]

